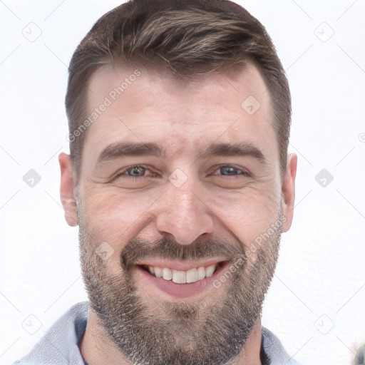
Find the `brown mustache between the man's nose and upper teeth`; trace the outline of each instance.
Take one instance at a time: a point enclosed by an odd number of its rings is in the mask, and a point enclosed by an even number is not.
[[[191,245],[180,245],[176,240],[145,241],[139,238],[130,240],[120,253],[120,263],[128,269],[142,259],[161,258],[181,261],[222,257],[225,261],[233,261],[244,255],[243,245],[239,242],[227,242],[217,237],[199,240]]]

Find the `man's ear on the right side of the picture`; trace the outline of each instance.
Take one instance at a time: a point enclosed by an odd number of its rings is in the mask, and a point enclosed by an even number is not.
[[[294,200],[295,200],[295,176],[297,175],[297,155],[291,153],[287,160],[287,173],[282,183],[282,215],[286,217],[282,222],[282,232],[287,232],[292,225]]]

